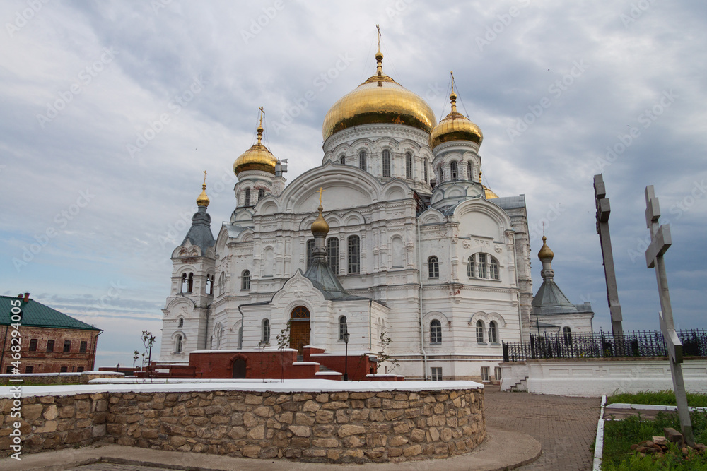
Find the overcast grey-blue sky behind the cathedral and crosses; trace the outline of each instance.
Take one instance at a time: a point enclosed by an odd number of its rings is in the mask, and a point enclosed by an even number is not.
[[[707,327],[703,1],[8,0],[0,18],[0,292],[105,330],[96,366],[159,337],[201,172],[216,235],[258,107],[289,181],[321,164],[327,110],[375,73],[377,23],[385,73],[438,119],[454,71],[484,183],[525,194],[534,291],[544,222],[556,282],[610,330],[603,172],[624,329],[658,328],[649,184],[672,229],[676,324]]]

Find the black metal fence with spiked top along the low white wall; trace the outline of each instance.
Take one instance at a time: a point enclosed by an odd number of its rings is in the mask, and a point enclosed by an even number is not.
[[[707,357],[707,330],[677,330],[684,357]],[[546,333],[530,342],[503,342],[504,362],[544,358],[667,357],[660,330],[604,333]]]

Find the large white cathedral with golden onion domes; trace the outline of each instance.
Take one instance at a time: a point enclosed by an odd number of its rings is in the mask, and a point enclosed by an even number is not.
[[[488,381],[500,375],[501,342],[530,337],[539,319],[525,196],[481,184],[483,135],[457,112],[453,88],[438,123],[382,58],[327,112],[322,165],[287,186],[286,160],[261,143],[261,115],[257,143],[233,165],[235,210],[216,239],[204,180],[172,254],[163,364],[277,350],[284,332],[293,349],[341,355],[348,333],[350,355],[385,349],[379,373]],[[560,308],[543,311],[544,330],[577,328],[577,310]]]

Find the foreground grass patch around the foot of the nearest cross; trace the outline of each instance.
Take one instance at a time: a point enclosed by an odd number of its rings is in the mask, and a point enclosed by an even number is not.
[[[696,443],[707,442],[707,412],[690,414]],[[623,420],[604,422],[603,471],[707,471],[707,455],[696,453],[686,461],[677,447],[670,448],[665,457],[648,455],[643,458],[631,451],[633,443],[650,440],[653,435],[663,436],[663,428],[680,429],[677,414],[659,412],[654,420],[645,420],[640,415]]]

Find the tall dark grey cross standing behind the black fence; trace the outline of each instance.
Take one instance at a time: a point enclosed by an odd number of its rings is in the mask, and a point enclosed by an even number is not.
[[[609,312],[612,315],[612,333],[617,337],[624,333],[621,326],[623,316],[621,316],[621,304],[619,303],[619,288],[617,287],[617,275],[614,272],[614,253],[612,252],[612,236],[609,233],[609,215],[612,208],[609,205],[607,189],[604,186],[602,174],[594,176],[594,198],[597,204],[597,234],[602,244],[602,258],[604,259],[604,277],[607,280],[607,300],[609,302]]]

